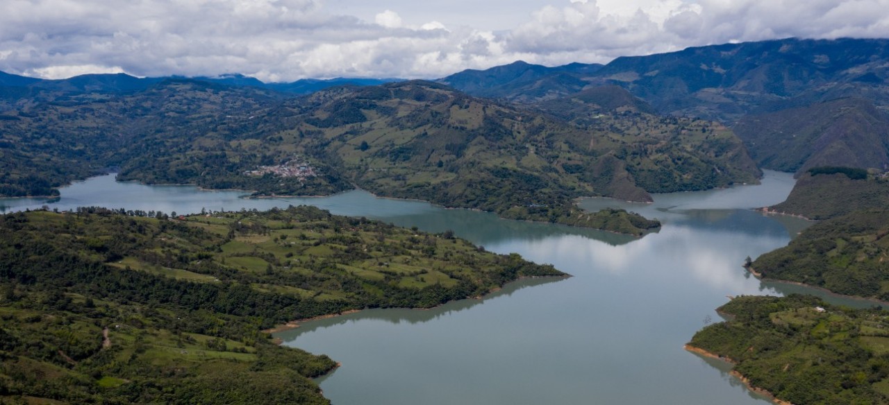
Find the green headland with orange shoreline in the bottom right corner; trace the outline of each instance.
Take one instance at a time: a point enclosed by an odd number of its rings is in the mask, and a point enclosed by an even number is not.
[[[730,316],[694,335],[687,349],[733,363],[733,375],[781,403],[889,402],[885,311],[829,306],[792,295],[738,297]]]

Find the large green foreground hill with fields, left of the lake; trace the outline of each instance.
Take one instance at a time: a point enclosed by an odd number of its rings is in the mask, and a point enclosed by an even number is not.
[[[0,216],[0,402],[328,403],[265,328],[564,276],[452,234],[312,207]]]

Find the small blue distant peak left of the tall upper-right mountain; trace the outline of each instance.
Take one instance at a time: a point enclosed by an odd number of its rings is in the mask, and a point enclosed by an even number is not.
[[[587,84],[582,77],[593,75],[601,67],[582,63],[545,67],[519,60],[485,70],[467,69],[437,82],[478,97],[534,101],[581,91]]]

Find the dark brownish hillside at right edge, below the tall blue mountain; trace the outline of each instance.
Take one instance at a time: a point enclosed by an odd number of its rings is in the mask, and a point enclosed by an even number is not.
[[[773,113],[745,115],[732,126],[761,167],[889,167],[889,114],[869,99],[835,99]]]

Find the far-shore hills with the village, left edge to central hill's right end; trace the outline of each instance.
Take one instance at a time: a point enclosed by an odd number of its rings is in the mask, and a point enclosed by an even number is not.
[[[642,234],[623,212],[581,215],[572,200],[755,182],[759,171],[716,123],[637,111],[566,123],[441,84],[280,93],[166,80],[127,94],[84,93],[7,111],[0,190],[49,195],[107,166],[120,179],[328,195],[379,195],[492,210],[507,218]]]

